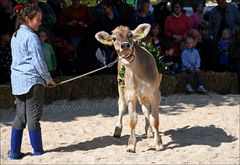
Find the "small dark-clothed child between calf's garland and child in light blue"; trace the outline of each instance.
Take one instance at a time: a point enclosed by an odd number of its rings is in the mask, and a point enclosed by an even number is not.
[[[179,72],[179,64],[174,61],[173,54],[174,54],[174,46],[170,42],[164,44],[162,46],[163,52],[163,62],[167,69],[165,73],[175,75]]]

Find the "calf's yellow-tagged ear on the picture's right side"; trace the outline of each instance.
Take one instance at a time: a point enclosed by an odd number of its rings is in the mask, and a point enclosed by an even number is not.
[[[132,31],[134,39],[140,40],[147,36],[151,29],[151,25],[148,23],[143,23],[138,25],[138,27]]]

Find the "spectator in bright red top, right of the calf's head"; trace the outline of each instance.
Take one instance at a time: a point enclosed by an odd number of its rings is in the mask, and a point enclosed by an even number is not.
[[[177,62],[181,61],[180,44],[186,34],[192,29],[188,16],[182,13],[183,4],[179,0],[174,0],[171,5],[172,15],[168,16],[165,21],[164,35],[167,40],[174,44],[174,56]]]

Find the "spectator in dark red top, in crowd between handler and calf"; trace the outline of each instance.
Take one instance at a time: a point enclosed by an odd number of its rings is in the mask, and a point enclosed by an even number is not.
[[[62,33],[76,47],[83,42],[87,29],[92,24],[91,10],[79,0],[71,0],[72,4],[66,7],[59,20]]]

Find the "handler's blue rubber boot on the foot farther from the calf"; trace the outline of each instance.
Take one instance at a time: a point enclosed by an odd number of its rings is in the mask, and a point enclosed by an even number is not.
[[[21,152],[23,130],[12,128],[10,159],[21,159],[25,154]]]

